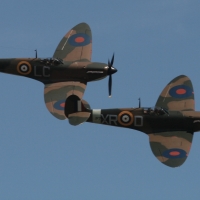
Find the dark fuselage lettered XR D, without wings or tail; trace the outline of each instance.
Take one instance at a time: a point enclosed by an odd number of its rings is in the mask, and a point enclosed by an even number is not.
[[[148,111],[149,110],[149,111]],[[167,111],[151,108],[93,109],[87,122],[135,129],[146,134],[166,131],[200,131],[200,112]]]

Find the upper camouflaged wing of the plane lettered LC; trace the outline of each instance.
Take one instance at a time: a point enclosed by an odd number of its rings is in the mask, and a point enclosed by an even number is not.
[[[92,33],[86,23],[80,23],[73,27],[60,41],[54,58],[64,61],[91,61]]]

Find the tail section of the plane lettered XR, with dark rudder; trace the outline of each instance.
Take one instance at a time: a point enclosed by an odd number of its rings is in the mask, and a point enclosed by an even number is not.
[[[65,102],[65,115],[71,125],[79,125],[90,117],[90,105],[85,100],[80,100],[76,95],[71,95]]]

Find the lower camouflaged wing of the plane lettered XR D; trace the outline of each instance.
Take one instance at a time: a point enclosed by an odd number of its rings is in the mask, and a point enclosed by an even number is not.
[[[151,150],[156,158],[169,167],[182,165],[189,154],[193,133],[173,131],[149,134]]]

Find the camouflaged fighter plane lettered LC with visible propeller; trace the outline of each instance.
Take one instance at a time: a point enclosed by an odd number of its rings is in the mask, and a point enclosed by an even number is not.
[[[92,33],[86,23],[73,27],[60,41],[52,58],[0,59],[0,72],[32,78],[44,83],[44,99],[49,112],[66,119],[65,100],[70,95],[80,99],[86,84],[109,76],[111,96],[114,54],[108,64],[91,62]]]

